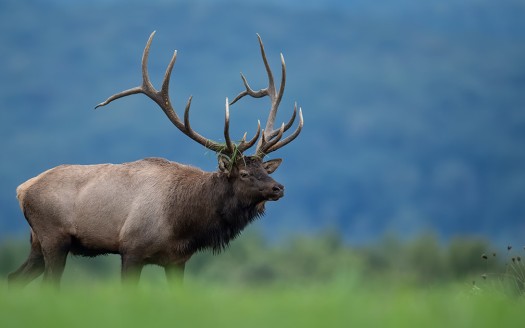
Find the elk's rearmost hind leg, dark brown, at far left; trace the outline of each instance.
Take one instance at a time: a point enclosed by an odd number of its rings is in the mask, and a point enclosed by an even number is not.
[[[29,253],[27,260],[20,266],[20,268],[18,268],[18,270],[10,273],[7,277],[9,287],[12,287],[15,284],[23,287],[44,272],[44,254],[42,253],[40,241],[33,231],[31,231],[30,240],[31,252]]]

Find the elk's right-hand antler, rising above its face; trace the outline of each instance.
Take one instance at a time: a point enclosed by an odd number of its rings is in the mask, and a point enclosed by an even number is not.
[[[246,77],[244,77],[244,75],[241,73],[242,82],[244,83],[244,87],[246,88],[246,90],[239,93],[237,97],[233,99],[230,105],[233,105],[235,102],[237,102],[237,100],[247,95],[252,96],[254,98],[261,98],[264,96],[268,96],[270,98],[270,101],[271,101],[270,114],[268,115],[268,120],[266,121],[266,127],[263,130],[262,137],[259,140],[259,143],[257,144],[257,149],[255,151],[256,156],[264,157],[265,155],[271,153],[272,151],[275,151],[287,145],[299,135],[299,133],[301,132],[301,129],[303,128],[303,112],[301,108],[299,108],[299,124],[296,130],[292,134],[290,134],[288,137],[281,140],[284,132],[290,129],[290,127],[293,125],[295,121],[295,117],[297,114],[297,103],[294,106],[294,111],[293,111],[292,117],[290,118],[290,121],[287,124],[283,123],[280,126],[280,128],[274,129],[273,126],[275,122],[275,116],[277,115],[277,110],[279,108],[279,104],[281,103],[281,99],[284,93],[284,87],[286,84],[286,65],[284,63],[283,54],[281,54],[281,74],[282,74],[281,75],[281,85],[279,87],[279,92],[276,92],[272,70],[270,69],[268,60],[266,59],[266,53],[264,51],[264,46],[261,40],[261,36],[257,34],[257,38],[259,39],[259,45],[261,47],[261,55],[262,55],[262,59],[264,62],[264,67],[266,68],[266,73],[268,74],[268,86],[264,89],[254,91],[248,84]]]

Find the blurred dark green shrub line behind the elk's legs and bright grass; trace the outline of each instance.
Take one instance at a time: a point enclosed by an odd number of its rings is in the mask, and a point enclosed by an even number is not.
[[[18,268],[29,252],[25,240],[0,244],[0,276]],[[220,254],[196,254],[186,266],[187,279],[257,286],[265,284],[309,285],[377,282],[395,285],[471,283],[487,273],[501,272],[505,256],[496,260],[494,246],[485,239],[457,237],[442,243],[433,233],[410,240],[385,235],[375,243],[351,246],[334,231],[317,236],[296,236],[269,242],[261,233],[249,231]],[[488,255],[487,255],[488,254]],[[65,280],[119,279],[116,255],[83,258],[70,256]],[[145,267],[143,279],[164,281],[159,267]]]

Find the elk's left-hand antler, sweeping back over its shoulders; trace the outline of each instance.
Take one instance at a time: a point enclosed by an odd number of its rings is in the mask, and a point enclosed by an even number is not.
[[[190,112],[190,105],[191,105],[191,99],[192,97],[188,99],[188,102],[186,103],[186,108],[184,109],[184,122],[182,122],[173,110],[173,107],[171,106],[171,100],[169,97],[169,84],[170,84],[170,76],[171,71],[173,70],[173,65],[175,64],[175,59],[177,58],[177,51],[173,53],[173,57],[171,58],[170,63],[168,64],[168,67],[166,68],[166,73],[164,74],[164,79],[162,81],[162,87],[160,91],[157,91],[153,85],[150,82],[149,75],[148,75],[148,55],[149,55],[149,48],[151,45],[151,41],[153,40],[153,36],[155,35],[155,31],[151,33],[148,42],[146,43],[146,47],[144,48],[144,54],[142,55],[142,85],[139,87],[131,88],[122,92],[119,92],[117,94],[112,95],[106,101],[98,104],[95,108],[105,106],[112,102],[113,100],[126,97],[129,95],[137,94],[137,93],[143,93],[146,96],[148,96],[150,99],[152,99],[154,102],[159,105],[159,107],[162,109],[162,111],[166,114],[168,119],[175,125],[182,133],[190,137],[191,139],[197,141],[204,147],[218,153],[222,153],[225,155],[233,155],[236,151],[243,152],[246,149],[252,147],[257,139],[259,138],[259,134],[261,132],[261,125],[258,124],[257,132],[255,136],[250,139],[249,141],[246,141],[246,134],[244,134],[244,137],[242,138],[239,145],[235,146],[231,139],[230,139],[230,132],[229,132],[229,126],[230,126],[230,110],[229,110],[229,104],[228,104],[228,98],[226,98],[226,106],[225,106],[225,119],[224,119],[224,141],[226,144],[218,143],[215,141],[212,141],[208,138],[205,138],[195,132],[191,126],[190,126],[190,119],[189,119],[189,112]],[[235,149],[237,148],[237,150]]]

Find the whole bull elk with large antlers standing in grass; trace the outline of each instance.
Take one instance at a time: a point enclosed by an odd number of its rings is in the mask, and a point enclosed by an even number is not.
[[[68,253],[120,254],[122,278],[134,283],[146,264],[164,267],[171,280],[170,277],[182,276],[185,263],[195,252],[224,249],[247,224],[264,214],[267,201],[283,197],[284,186],[270,177],[282,160],[263,162],[263,158],[299,135],[303,116],[299,109],[299,123],[285,138],[284,133],[296,118],[297,105],[289,122],[274,128],[286,82],[282,54],[281,83],[276,89],[257,35],[268,86],[253,90],[241,73],[245,90],[232,102],[226,98],[221,143],[191,128],[191,97],[182,120],[172,107],[169,83],[176,51],[161,89],[156,90],[151,84],[147,64],[154,34],[142,56],[142,85],[117,93],[96,107],[129,95],[145,94],[177,129],[217,153],[218,170],[205,172],[161,158],[146,158],[124,164],[60,165],[27,180],[17,188],[17,198],[31,227],[31,251],[25,263],[9,275],[9,285],[25,285],[42,273],[44,281],[58,285]],[[270,113],[262,131],[259,121],[251,139],[247,140],[244,134],[235,143],[229,134],[229,106],[245,96],[269,97]],[[255,153],[245,155],[255,144]]]

